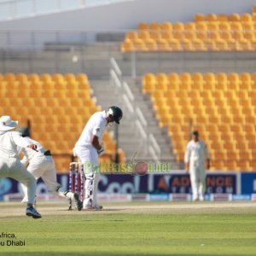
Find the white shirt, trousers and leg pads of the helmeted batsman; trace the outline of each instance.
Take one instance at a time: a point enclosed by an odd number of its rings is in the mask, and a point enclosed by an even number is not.
[[[94,113],[82,131],[79,141],[76,143],[74,153],[82,163],[98,164],[98,154],[96,148],[91,144],[94,136],[98,137],[102,143],[102,135],[107,126],[107,114],[105,111]],[[85,168],[84,168],[85,169]],[[100,173],[95,173],[93,169],[85,173],[84,183],[84,205],[92,203],[96,205],[96,190],[99,182]]]

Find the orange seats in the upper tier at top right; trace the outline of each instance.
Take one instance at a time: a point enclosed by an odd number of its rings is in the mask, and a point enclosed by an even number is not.
[[[140,23],[127,32],[121,51],[252,51],[256,13],[195,15],[192,22]]]

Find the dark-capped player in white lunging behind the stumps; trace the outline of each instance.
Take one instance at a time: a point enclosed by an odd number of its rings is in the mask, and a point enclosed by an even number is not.
[[[54,193],[56,195],[60,195],[61,197],[66,197],[71,199],[76,206],[76,208],[80,211],[83,207],[83,203],[79,201],[79,195],[77,193],[69,192],[61,187],[60,183],[57,183],[56,171],[55,171],[55,160],[50,154],[49,150],[45,150],[44,147],[32,140],[29,137],[29,131],[26,127],[20,127],[18,129],[20,134],[27,143],[32,143],[37,145],[38,152],[32,150],[31,148],[21,148],[22,153],[24,154],[21,163],[27,166],[27,171],[32,173],[33,177],[38,180],[39,177],[42,177],[44,183],[46,184],[49,192]],[[27,189],[26,186],[22,185],[22,189],[24,192],[24,198],[22,202],[27,201]]]

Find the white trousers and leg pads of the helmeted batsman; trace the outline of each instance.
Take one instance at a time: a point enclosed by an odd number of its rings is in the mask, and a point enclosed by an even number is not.
[[[98,183],[100,179],[100,173],[95,172],[93,165],[98,165],[98,154],[96,148],[92,145],[80,148],[75,147],[75,152],[79,157],[79,161],[82,163],[90,163],[90,170],[85,172],[85,183],[84,183],[84,205],[92,203],[93,206],[97,203],[96,193],[98,188]],[[84,170],[88,169],[84,167]]]

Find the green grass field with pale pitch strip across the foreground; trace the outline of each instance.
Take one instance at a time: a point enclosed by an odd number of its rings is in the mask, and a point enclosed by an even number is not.
[[[20,203],[0,203],[0,235],[26,242],[0,246],[0,255],[256,255],[253,202],[108,204],[102,212],[40,202],[38,211],[43,218],[32,219]]]

